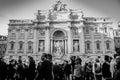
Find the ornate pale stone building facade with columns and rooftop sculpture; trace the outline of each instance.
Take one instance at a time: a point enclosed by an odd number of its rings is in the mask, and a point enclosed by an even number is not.
[[[110,18],[85,17],[65,6],[58,1],[53,9],[38,10],[34,20],[10,20],[6,56],[39,57],[45,52],[61,59],[115,53]]]

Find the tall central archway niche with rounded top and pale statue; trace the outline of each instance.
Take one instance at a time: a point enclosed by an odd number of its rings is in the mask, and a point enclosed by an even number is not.
[[[62,58],[66,53],[66,33],[63,30],[55,30],[52,34],[52,54],[55,58]]]

